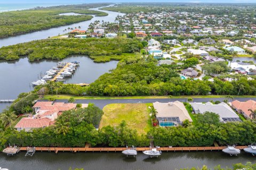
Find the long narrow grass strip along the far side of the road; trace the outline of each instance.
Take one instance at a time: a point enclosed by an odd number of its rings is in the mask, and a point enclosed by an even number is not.
[[[55,99],[69,99],[74,97],[75,99],[157,99],[157,98],[169,98],[169,96],[123,96],[123,97],[101,97],[101,96],[72,96],[72,95],[45,95],[44,100],[49,98]],[[205,95],[205,96],[172,96],[172,98],[225,98],[226,95]],[[256,96],[233,96],[234,98],[254,98]]]

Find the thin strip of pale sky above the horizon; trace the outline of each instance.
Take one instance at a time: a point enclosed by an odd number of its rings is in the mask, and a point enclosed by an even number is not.
[[[100,2],[190,2],[190,3],[256,3],[256,0],[0,0],[0,4],[21,3],[100,3]],[[0,5],[1,6],[1,5]]]

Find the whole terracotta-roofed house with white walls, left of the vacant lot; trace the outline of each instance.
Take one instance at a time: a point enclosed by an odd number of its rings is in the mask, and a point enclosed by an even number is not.
[[[73,103],[53,103],[53,101],[38,101],[33,109],[35,115],[32,117],[23,117],[14,126],[18,131],[31,131],[35,128],[45,128],[54,124],[54,120],[64,111],[75,109],[76,104]]]

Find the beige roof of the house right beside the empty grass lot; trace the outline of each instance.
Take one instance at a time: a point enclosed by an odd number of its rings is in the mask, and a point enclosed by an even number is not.
[[[193,122],[187,109],[180,101],[169,103],[159,103],[157,101],[153,103],[153,105],[157,111],[156,117],[179,117],[181,122],[186,119],[189,120],[189,122]]]

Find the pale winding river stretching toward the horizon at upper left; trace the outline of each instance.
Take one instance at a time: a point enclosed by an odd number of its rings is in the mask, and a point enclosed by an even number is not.
[[[111,6],[111,5],[109,5]],[[87,30],[89,27],[89,24],[94,22],[94,21],[104,21],[104,22],[114,22],[116,19],[117,15],[124,15],[124,13],[118,13],[118,12],[111,12],[111,11],[105,11],[105,10],[99,10],[101,7],[97,8],[91,8],[90,10],[95,10],[95,11],[102,11],[108,13],[108,16],[95,16],[93,15],[93,18],[88,21],[83,21],[83,22],[78,22],[70,25],[65,25],[61,27],[56,27],[56,28],[51,28],[47,30],[42,30],[42,31],[36,31],[36,32],[31,32],[31,33],[26,33],[25,35],[19,35],[15,37],[8,37],[4,39],[0,39],[0,47],[3,46],[9,46],[9,45],[14,45],[18,43],[26,43],[28,41],[33,41],[33,40],[39,40],[39,39],[46,39],[48,37],[53,37],[53,36],[58,36],[59,34],[63,34],[63,30],[67,28],[75,28],[80,26],[82,30]]]

